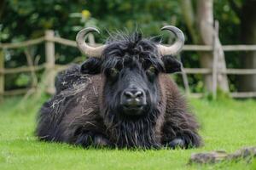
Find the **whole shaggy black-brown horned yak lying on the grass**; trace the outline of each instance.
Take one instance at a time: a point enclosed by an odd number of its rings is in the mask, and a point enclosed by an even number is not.
[[[100,32],[79,31],[78,47],[90,58],[56,77],[56,94],[38,113],[38,139],[84,147],[200,146],[199,124],[168,75],[181,71],[175,56],[183,48],[183,32],[175,26],[162,30],[176,36],[172,45],[135,31],[92,47],[86,36]]]

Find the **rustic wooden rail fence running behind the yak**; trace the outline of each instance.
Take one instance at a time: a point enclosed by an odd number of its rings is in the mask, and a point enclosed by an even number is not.
[[[45,43],[45,63],[43,65],[34,65],[32,62],[32,57],[30,54],[26,54],[27,66],[21,66],[18,68],[5,68],[4,67],[4,50],[6,49],[15,49],[15,48],[28,48],[39,43]],[[61,37],[55,37],[54,31],[45,31],[44,37],[39,37],[37,39],[29,40],[26,42],[15,42],[15,43],[0,43],[0,97],[17,95],[17,94],[26,94],[28,91],[33,91],[38,88],[36,71],[46,71],[47,73],[47,87],[46,91],[49,94],[55,93],[55,72],[65,70],[68,65],[55,65],[55,43],[62,45],[70,46],[77,48],[75,41],[67,40]],[[256,45],[223,45],[224,52],[227,51],[256,51]],[[210,52],[213,54],[213,58],[217,57],[215,44],[212,46],[204,45],[185,45],[183,51],[204,51]],[[26,51],[25,51],[26,53]],[[213,59],[214,60],[214,59]],[[11,91],[6,91],[4,89],[4,76],[8,74],[15,74],[20,72],[31,72],[32,74],[32,87],[25,89],[16,89]],[[189,93],[189,82],[188,74],[212,74],[212,83],[215,83],[215,87],[212,90],[212,94],[216,95],[217,90],[217,75],[218,74],[227,74],[227,75],[256,75],[256,69],[226,69],[225,71],[219,71],[217,65],[212,65],[212,68],[183,68],[182,77],[184,82],[184,87],[186,93],[194,96],[201,97],[202,94],[190,94]],[[256,97],[256,92],[236,92],[230,93],[234,98],[249,98]]]

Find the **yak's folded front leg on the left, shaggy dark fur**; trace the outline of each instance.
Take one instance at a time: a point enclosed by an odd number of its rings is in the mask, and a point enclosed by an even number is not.
[[[111,144],[105,132],[106,127],[102,118],[98,116],[98,112],[85,113],[81,114],[79,111],[74,111],[73,114],[65,117],[65,120],[61,122],[61,127],[65,129],[63,140],[69,144],[77,144],[84,147],[110,146]]]

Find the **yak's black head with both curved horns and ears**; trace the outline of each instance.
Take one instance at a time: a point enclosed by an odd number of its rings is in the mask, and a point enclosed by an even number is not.
[[[183,33],[174,26],[163,29],[177,36],[171,47],[143,39],[136,32],[112,37],[106,45],[92,48],[84,37],[97,30],[87,28],[79,32],[79,48],[91,57],[81,65],[81,72],[102,73],[103,101],[111,112],[130,118],[146,115],[160,102],[160,74],[180,71],[181,64],[173,55],[183,47]]]

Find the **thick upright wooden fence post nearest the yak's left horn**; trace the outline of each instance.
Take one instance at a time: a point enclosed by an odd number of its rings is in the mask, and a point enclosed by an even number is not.
[[[54,31],[45,31],[46,92],[49,94],[55,94],[55,43],[51,41],[54,37]]]

